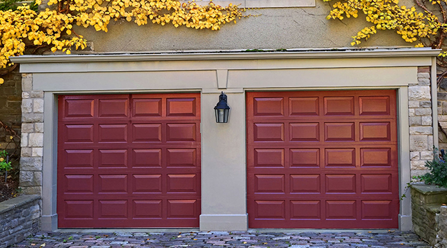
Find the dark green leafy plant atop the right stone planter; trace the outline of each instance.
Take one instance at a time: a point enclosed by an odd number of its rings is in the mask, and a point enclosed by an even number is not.
[[[426,161],[425,166],[430,171],[424,175],[413,177],[426,184],[434,184],[447,188],[447,155],[441,150],[441,156],[438,155],[438,149],[433,149],[434,158],[432,161]]]

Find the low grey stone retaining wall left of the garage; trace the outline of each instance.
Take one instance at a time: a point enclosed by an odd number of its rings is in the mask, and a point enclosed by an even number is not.
[[[0,248],[39,231],[41,205],[40,195],[21,195],[0,203]]]

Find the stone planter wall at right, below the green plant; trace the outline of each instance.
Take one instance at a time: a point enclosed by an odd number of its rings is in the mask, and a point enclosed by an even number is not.
[[[447,248],[447,189],[424,183],[410,188],[413,231],[430,245]]]

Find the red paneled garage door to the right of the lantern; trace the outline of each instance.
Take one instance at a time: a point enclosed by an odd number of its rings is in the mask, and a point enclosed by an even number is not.
[[[247,93],[253,228],[397,228],[396,91]]]

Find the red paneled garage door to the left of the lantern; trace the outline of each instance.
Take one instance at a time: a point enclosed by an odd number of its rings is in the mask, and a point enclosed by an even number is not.
[[[63,95],[59,227],[198,227],[200,94]]]

